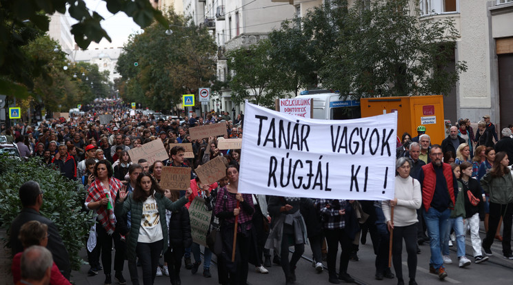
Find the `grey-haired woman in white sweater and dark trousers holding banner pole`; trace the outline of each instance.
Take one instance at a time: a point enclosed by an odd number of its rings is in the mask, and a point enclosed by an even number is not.
[[[403,285],[403,264],[401,253],[403,251],[403,240],[408,253],[408,275],[410,285],[416,285],[415,274],[417,264],[416,242],[417,242],[417,220],[416,209],[421,207],[421,184],[410,177],[412,160],[410,158],[399,158],[396,162],[395,198],[390,201],[382,201],[381,207],[387,221],[388,230],[393,233],[392,261],[396,271],[397,284]],[[390,211],[394,207],[394,220]]]

